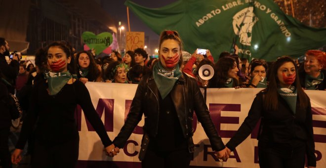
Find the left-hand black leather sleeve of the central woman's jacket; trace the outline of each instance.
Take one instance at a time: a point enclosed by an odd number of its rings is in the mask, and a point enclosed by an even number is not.
[[[130,106],[130,111],[127,115],[127,118],[122,126],[118,136],[113,140],[115,146],[123,148],[125,142],[130,137],[132,131],[135,129],[137,124],[140,122],[143,116],[142,110],[142,100],[144,98],[144,91],[146,86],[147,78],[142,78],[140,84],[137,86],[137,90],[132,103]]]

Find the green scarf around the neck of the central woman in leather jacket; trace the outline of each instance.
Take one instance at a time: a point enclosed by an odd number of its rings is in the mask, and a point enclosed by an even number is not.
[[[153,67],[154,81],[161,93],[162,99],[172,90],[181,75],[182,72],[180,71],[179,64],[176,65],[173,71],[166,71],[160,61]]]

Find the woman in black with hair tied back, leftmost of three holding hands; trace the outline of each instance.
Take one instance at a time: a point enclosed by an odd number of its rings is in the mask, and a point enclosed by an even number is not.
[[[24,119],[11,162],[18,164],[27,139],[33,135],[32,167],[75,168],[79,155],[79,133],[75,121],[77,105],[99,135],[106,153],[114,145],[91,102],[84,84],[72,75],[72,47],[64,41],[53,42],[46,49],[51,71],[32,90],[27,116]]]

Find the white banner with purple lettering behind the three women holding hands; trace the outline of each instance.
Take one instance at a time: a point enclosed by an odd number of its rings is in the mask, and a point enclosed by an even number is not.
[[[110,139],[113,140],[124,124],[137,84],[88,82],[86,87]],[[225,144],[243,123],[253,98],[260,90],[258,88],[207,89],[206,103],[216,129]],[[312,105],[317,167],[324,167],[326,165],[326,91],[306,90],[306,93],[310,97]],[[79,168],[86,168],[90,163],[92,166],[114,164],[118,167],[140,167],[138,153],[142,138],[142,126],[144,125],[143,120],[135,128],[125,147],[114,158],[105,155],[99,136],[85,120],[80,108],[77,110],[77,120],[80,129]],[[196,116],[194,116],[194,129],[193,139],[197,147],[190,163],[191,166],[259,168],[257,126],[251,135],[231,153],[227,162],[219,162],[214,158],[209,140],[203,127],[197,122]]]

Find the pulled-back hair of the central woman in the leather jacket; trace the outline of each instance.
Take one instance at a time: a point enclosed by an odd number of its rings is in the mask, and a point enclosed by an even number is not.
[[[179,60],[178,64],[179,64],[179,67],[181,67],[182,62],[183,62],[182,52],[181,52],[182,51],[182,40],[181,40],[180,35],[179,35],[178,32],[173,31],[173,30],[165,30],[165,31],[163,31],[161,33],[161,35],[160,35],[160,44],[159,44],[159,52],[160,52],[162,43],[165,40],[168,40],[168,39],[175,40],[176,42],[178,42],[178,44],[180,46],[180,60]],[[159,56],[161,56],[161,55],[159,55]]]

